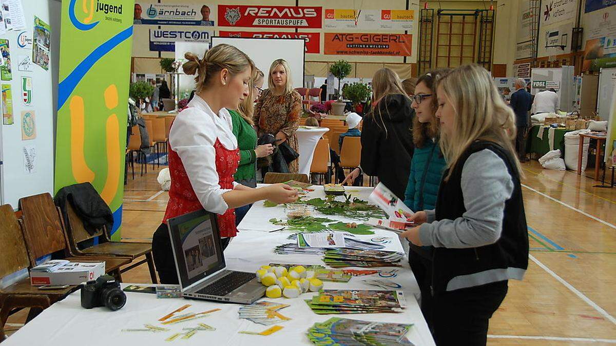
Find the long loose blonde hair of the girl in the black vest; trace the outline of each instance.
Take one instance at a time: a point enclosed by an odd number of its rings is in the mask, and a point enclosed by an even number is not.
[[[496,143],[514,158],[514,169],[522,174],[517,160],[513,140],[516,138],[516,121],[513,110],[506,105],[498,93],[490,74],[483,67],[471,64],[463,65],[443,76],[437,81],[437,87],[443,87],[444,95],[452,103],[455,116],[453,128],[455,133],[441,133],[440,148],[447,161],[449,173],[464,151],[476,140]]]

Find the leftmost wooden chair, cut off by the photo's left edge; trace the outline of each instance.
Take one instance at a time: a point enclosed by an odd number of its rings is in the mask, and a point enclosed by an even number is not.
[[[13,208],[4,204],[0,206],[0,278],[30,267],[22,229]],[[30,278],[25,278],[0,289],[0,342],[4,340],[4,324],[12,312],[30,308],[28,318],[33,318],[75,287],[41,291],[31,286]]]

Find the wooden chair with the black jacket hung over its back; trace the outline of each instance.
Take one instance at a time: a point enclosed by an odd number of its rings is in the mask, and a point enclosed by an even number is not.
[[[58,214],[62,215],[62,211],[60,211],[60,208],[57,209]],[[79,215],[77,215],[75,209],[70,202],[67,202],[67,214],[68,220],[65,220],[65,226],[68,236],[68,243],[73,254],[80,256],[105,255],[110,257],[126,257],[131,260],[131,265],[126,268],[122,268],[120,270],[121,273],[127,272],[132,268],[147,263],[148,269],[150,270],[150,278],[152,278],[152,283],[157,283],[154,259],[152,257],[152,243],[128,243],[111,241],[105,227],[100,230],[97,230],[94,235],[91,235],[90,233],[88,233],[88,231],[86,231],[86,228],[84,228],[83,221],[79,218]],[[99,237],[99,244],[86,247],[85,249],[79,249],[79,247],[77,246],[77,244],[81,243],[82,241],[86,241],[95,237]],[[132,263],[141,256],[145,256],[145,259],[140,260],[136,263]]]

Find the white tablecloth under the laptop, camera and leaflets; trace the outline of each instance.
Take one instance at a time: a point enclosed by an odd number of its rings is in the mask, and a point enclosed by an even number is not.
[[[315,187],[312,196],[323,195],[322,187]],[[371,188],[347,188],[347,192],[356,194],[364,199]],[[259,205],[261,207],[259,207]],[[241,226],[265,228],[264,219],[282,217],[282,206],[264,208],[256,203],[251,208]],[[332,219],[339,219],[332,217]],[[265,220],[267,221],[267,220]],[[279,228],[279,227],[278,227]],[[282,264],[321,264],[320,255],[278,255],[272,252],[278,244],[290,243],[287,239],[292,232],[276,231],[269,233],[264,229],[248,230],[243,228],[234,238],[225,251],[227,267],[233,270],[254,271],[261,265],[269,263]],[[360,239],[387,238],[387,250],[402,251],[397,235],[391,231],[375,230],[375,235],[358,235]],[[351,278],[349,283],[324,283],[325,289],[378,289],[368,286],[363,280],[391,280],[402,286],[407,308],[402,313],[368,313],[350,315],[316,315],[304,302],[315,293],[307,292],[296,299],[267,299],[275,302],[290,304],[290,307],[280,310],[282,315],[292,320],[279,323],[284,328],[270,336],[239,334],[238,331],[264,331],[269,326],[252,323],[238,318],[238,304],[222,304],[206,302],[203,300],[185,299],[156,299],[154,294],[126,292],[126,305],[116,312],[99,307],[92,310],[81,308],[79,291],[71,294],[65,300],[57,302],[44,310],[41,315],[34,318],[22,329],[10,336],[2,346],[14,345],[172,345],[177,344],[203,344],[203,345],[310,345],[306,331],[316,322],[326,321],[331,317],[352,318],[356,320],[387,321],[395,323],[413,323],[407,337],[415,345],[434,345],[426,321],[416,298],[419,297],[419,288],[415,276],[411,273],[407,260],[403,260],[402,267],[376,268],[377,270],[391,270],[397,268],[394,278],[381,278],[378,275],[357,276]],[[125,285],[124,285],[125,286]],[[200,318],[199,320],[165,326],[171,329],[168,332],[122,332],[124,328],[144,328],[145,323],[162,326],[158,319],[176,310],[184,304],[192,307],[187,312],[203,312],[213,308],[221,308],[219,312]],[[174,332],[181,332],[182,328],[197,326],[197,323],[206,323],[216,328],[216,331],[198,331],[188,340],[180,338],[171,344],[165,339]]]

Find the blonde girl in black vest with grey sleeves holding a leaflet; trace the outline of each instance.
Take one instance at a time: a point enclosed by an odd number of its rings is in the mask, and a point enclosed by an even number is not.
[[[437,102],[447,170],[436,209],[417,212],[421,226],[401,236],[435,247],[421,310],[436,344],[485,345],[508,280],[528,266],[515,117],[479,65],[440,79]]]

